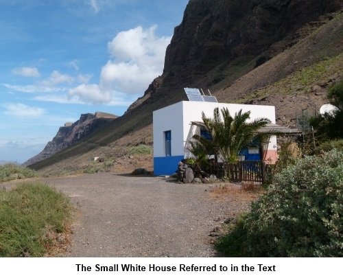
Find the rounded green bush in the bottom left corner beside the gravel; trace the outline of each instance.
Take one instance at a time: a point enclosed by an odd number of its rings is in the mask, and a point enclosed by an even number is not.
[[[0,257],[41,257],[71,220],[69,198],[42,183],[0,190]]]

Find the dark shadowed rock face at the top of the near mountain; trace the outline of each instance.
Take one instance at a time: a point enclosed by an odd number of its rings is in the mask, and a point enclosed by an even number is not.
[[[164,72],[194,82],[239,56],[258,56],[342,5],[341,0],[191,0],[167,47]]]

